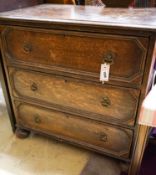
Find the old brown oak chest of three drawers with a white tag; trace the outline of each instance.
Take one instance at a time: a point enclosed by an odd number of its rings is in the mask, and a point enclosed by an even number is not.
[[[155,58],[152,15],[154,9],[57,5],[2,13],[16,133],[47,134],[130,162],[129,174],[136,174],[149,130],[137,119]],[[104,63],[110,74],[103,84]]]

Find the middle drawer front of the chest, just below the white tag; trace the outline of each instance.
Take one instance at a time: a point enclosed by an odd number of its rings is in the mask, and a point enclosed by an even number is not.
[[[15,97],[40,100],[101,121],[133,125],[139,91],[93,85],[65,77],[10,69]]]

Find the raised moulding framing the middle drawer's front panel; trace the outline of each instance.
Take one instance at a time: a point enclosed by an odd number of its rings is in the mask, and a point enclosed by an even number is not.
[[[12,88],[12,94],[13,94],[13,97],[14,98],[23,99],[23,100],[26,100],[26,101],[28,100],[28,101],[34,102],[36,104],[41,103],[42,105],[49,106],[50,108],[55,108],[55,109],[61,110],[61,111],[67,111],[67,112],[69,112],[71,114],[76,114],[76,115],[83,116],[85,118],[93,119],[93,120],[96,120],[96,121],[107,122],[107,123],[114,123],[114,124],[117,124],[117,125],[125,125],[125,127],[128,127],[128,128],[134,128],[134,126],[135,126],[135,120],[136,120],[137,106],[138,106],[139,98],[137,98],[136,97],[137,95],[135,96],[135,94],[130,91],[131,90],[130,88],[117,87],[119,89],[121,88],[121,89],[126,89],[127,91],[129,91],[129,94],[136,101],[136,107],[135,107],[135,111],[133,113],[134,117],[133,118],[130,118],[129,120],[126,120],[126,119],[118,120],[115,117],[114,118],[112,117],[112,119],[110,119],[110,116],[106,116],[105,115],[105,118],[102,119],[102,117],[100,117],[100,116],[103,116],[102,114],[97,114],[97,113],[93,113],[93,112],[89,112],[89,111],[84,111],[84,110],[72,108],[70,106],[61,106],[61,105],[53,104],[53,103],[46,102],[46,101],[43,101],[43,100],[36,100],[35,98],[27,97],[27,96],[24,96],[24,95],[20,94],[16,90],[16,88],[14,86],[14,83],[13,83],[13,75],[14,75],[14,73],[16,73],[16,71],[20,71],[21,70],[21,71],[31,72],[31,73],[37,73],[37,74],[41,74],[41,75],[45,75],[45,76],[46,75],[49,75],[49,74],[40,73],[40,72],[34,72],[34,71],[28,71],[28,70],[23,70],[21,68],[14,69],[13,67],[11,67],[8,70],[9,70],[9,75],[10,75],[10,84],[13,87]],[[69,79],[69,80],[72,80],[72,81],[75,81],[75,82],[83,82],[81,80],[76,80],[76,79],[72,79],[72,78],[69,78],[69,77],[61,77],[61,76],[58,76],[58,75],[55,75],[55,76],[57,76],[58,78],[61,78],[61,79],[62,78],[65,78],[65,79]],[[83,83],[90,84],[90,82],[83,82]],[[107,87],[112,87],[111,85],[106,85],[106,86]],[[113,87],[116,88],[116,86],[113,86]],[[133,90],[135,90],[135,89],[133,89]],[[124,124],[125,122],[127,122],[127,123],[129,122],[129,124]]]

